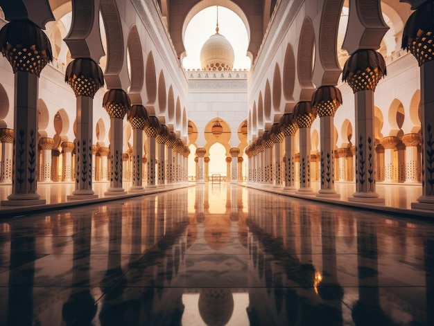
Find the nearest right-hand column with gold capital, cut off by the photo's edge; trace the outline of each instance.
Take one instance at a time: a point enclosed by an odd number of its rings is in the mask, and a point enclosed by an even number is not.
[[[402,47],[412,53],[420,69],[420,118],[422,127],[422,196],[412,208],[434,210],[434,10],[432,1],[415,1],[408,18]]]

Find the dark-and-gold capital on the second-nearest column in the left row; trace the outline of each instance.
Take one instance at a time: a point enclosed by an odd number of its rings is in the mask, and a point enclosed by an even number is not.
[[[69,62],[64,79],[77,97],[94,98],[98,89],[101,89],[104,85],[104,75],[101,67],[88,57],[77,58]]]

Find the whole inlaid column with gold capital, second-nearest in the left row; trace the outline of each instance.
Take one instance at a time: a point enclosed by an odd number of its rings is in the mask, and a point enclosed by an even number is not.
[[[90,58],[78,58],[70,62],[65,80],[76,95],[76,189],[67,199],[97,198],[92,190],[92,134],[94,96],[103,87],[101,67]]]

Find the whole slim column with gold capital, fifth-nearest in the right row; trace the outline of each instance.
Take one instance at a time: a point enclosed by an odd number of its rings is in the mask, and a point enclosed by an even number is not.
[[[280,129],[285,136],[285,184],[284,190],[295,191],[295,133],[298,125],[293,114],[284,114],[280,119]]]

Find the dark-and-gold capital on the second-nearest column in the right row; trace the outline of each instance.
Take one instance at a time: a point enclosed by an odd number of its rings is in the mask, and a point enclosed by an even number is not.
[[[354,93],[375,91],[376,84],[385,75],[383,55],[370,49],[358,50],[345,62],[342,81],[346,81]]]

